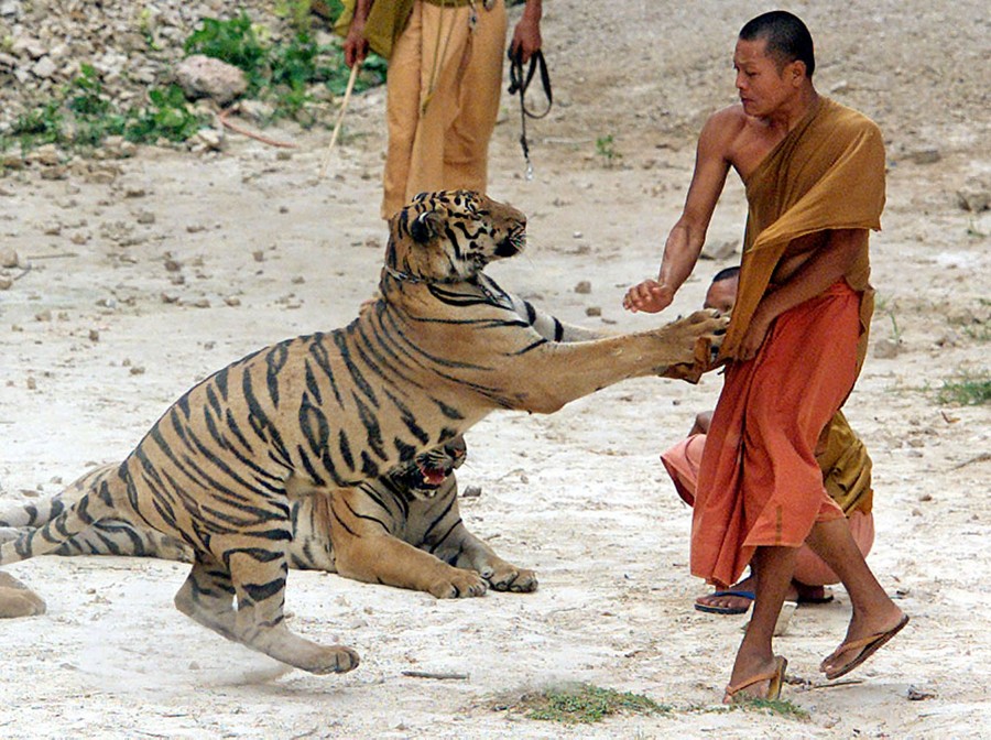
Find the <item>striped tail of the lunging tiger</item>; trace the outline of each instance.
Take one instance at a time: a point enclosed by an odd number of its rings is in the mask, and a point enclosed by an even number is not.
[[[40,529],[22,531],[20,536],[0,545],[0,565],[20,563],[47,555],[108,516],[119,516],[115,489],[123,482],[116,476],[99,477],[83,497]]]

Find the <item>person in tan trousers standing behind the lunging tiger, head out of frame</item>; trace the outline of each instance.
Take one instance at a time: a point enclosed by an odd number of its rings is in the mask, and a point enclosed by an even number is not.
[[[524,63],[541,48],[541,0],[526,0],[510,46]],[[505,34],[504,0],[357,0],[346,63],[364,59],[370,41],[389,58],[383,218],[417,193],[486,192]]]

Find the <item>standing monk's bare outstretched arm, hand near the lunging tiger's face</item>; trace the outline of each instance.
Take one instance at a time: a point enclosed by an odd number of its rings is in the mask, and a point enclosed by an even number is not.
[[[726,185],[730,167],[728,151],[734,133],[725,111],[714,115],[706,122],[698,138],[695,173],[685,198],[685,208],[667,235],[657,280],[645,280],[627,292],[623,307],[628,311],[653,314],[666,308],[691,274],[706,242],[706,231],[716,203]]]

